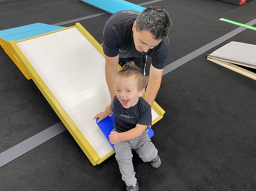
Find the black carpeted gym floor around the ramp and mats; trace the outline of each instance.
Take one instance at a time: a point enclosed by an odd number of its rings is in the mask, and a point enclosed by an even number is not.
[[[244,24],[256,19],[256,0],[241,6],[217,0],[155,4],[173,21],[168,64],[238,28],[220,18]],[[0,30],[97,13],[102,11],[78,0],[0,0]],[[79,22],[101,43],[109,16]],[[152,126],[162,165],[153,169],[134,153],[142,191],[256,190],[256,81],[206,59],[230,41],[255,45],[255,37],[246,29],[163,76],[156,102],[166,113]],[[34,82],[0,48],[0,153],[58,122]],[[92,166],[68,131],[0,167],[0,183],[6,191],[125,190],[115,156]]]

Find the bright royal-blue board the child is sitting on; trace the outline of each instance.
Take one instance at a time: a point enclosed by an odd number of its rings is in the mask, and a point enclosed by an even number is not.
[[[104,136],[107,138],[109,142],[109,134],[114,129],[114,118],[115,115],[113,114],[112,117],[107,116],[105,119],[102,119],[99,123],[97,123],[98,119],[96,119],[96,124],[99,126],[100,130],[104,134]],[[148,128],[148,135],[149,138],[154,136],[154,131],[151,128]],[[109,144],[112,146],[113,150],[115,151],[114,145],[109,142]]]

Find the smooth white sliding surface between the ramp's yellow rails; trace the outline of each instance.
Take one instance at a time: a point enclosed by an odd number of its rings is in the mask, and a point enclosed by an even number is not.
[[[112,148],[93,119],[110,103],[104,57],[76,28],[17,43],[100,158]]]

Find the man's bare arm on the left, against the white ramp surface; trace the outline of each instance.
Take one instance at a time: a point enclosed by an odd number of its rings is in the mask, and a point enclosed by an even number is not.
[[[104,57],[105,57],[105,78],[107,81],[107,86],[109,88],[111,100],[113,100],[116,94],[115,79],[117,77],[117,65],[119,61],[119,54],[115,57],[108,57],[106,55],[104,55]]]

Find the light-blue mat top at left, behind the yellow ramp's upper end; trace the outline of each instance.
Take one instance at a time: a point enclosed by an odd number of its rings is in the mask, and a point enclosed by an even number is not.
[[[18,41],[64,28],[65,27],[59,27],[49,24],[34,23],[30,25],[24,25],[21,27],[15,27],[12,29],[1,30],[0,38],[2,38],[5,41]]]

